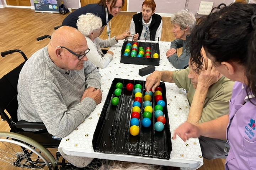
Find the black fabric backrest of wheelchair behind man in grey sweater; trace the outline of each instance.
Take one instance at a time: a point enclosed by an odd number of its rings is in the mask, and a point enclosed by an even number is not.
[[[20,66],[11,70],[11,72],[0,79],[0,112],[4,112],[6,109],[15,123],[18,121],[18,78],[24,64],[25,62],[21,63]]]

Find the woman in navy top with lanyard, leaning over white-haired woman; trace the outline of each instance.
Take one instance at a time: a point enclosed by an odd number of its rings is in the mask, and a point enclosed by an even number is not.
[[[106,25],[108,25],[108,21],[110,21],[110,26],[108,27],[108,36],[110,38],[110,27],[111,27],[111,19],[117,15],[117,13],[121,10],[124,5],[124,0],[100,0],[97,4],[88,4],[83,6],[74,12],[71,12],[62,22],[63,26],[70,26],[77,29],[76,22],[78,17],[82,14],[86,13],[94,13],[94,15],[98,16],[102,20],[102,29],[100,34]],[[107,15],[106,15],[107,13]]]

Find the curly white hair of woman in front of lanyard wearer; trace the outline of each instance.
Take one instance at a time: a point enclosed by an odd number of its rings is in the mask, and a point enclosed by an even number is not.
[[[92,31],[101,28],[102,21],[100,17],[95,16],[93,13],[86,13],[86,15],[78,17],[76,26],[84,36],[89,36]]]

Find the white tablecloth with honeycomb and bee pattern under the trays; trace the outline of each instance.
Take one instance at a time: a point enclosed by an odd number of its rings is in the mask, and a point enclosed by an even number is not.
[[[82,124],[62,139],[58,148],[59,152],[66,160],[78,167],[89,164],[93,158],[101,158],[177,166],[191,170],[199,168],[203,165],[203,158],[198,138],[191,138],[186,142],[183,142],[179,137],[175,140],[172,139],[172,151],[169,160],[94,152],[92,137],[113,79],[146,80],[148,76],[141,77],[138,74],[139,69],[146,66],[120,63],[122,44],[123,41],[119,41],[118,44],[110,47],[109,50],[114,52],[113,60],[106,68],[100,69],[102,102],[86,117]],[[171,42],[160,41],[160,66],[155,66],[156,70],[175,70],[165,55],[166,51],[170,49],[170,44]],[[174,83],[165,83],[165,85],[170,130],[171,135],[173,135],[174,130],[186,121],[190,106],[184,89],[179,89]]]

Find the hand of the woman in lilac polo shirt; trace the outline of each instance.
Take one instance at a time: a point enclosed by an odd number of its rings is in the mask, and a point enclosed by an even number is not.
[[[176,135],[180,136],[180,138],[185,142],[191,137],[200,137],[200,129],[196,125],[185,122],[174,130],[174,139],[176,138]]]

